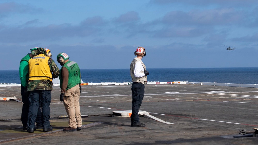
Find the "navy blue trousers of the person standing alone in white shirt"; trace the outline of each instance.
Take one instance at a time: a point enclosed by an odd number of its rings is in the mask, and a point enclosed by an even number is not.
[[[144,84],[142,83],[132,83],[132,115],[131,122],[136,124],[140,122],[139,109],[142,105],[144,96]]]

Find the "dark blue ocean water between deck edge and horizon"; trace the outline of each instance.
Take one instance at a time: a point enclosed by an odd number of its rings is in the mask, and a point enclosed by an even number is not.
[[[148,81],[258,84],[258,67],[252,68],[150,68]],[[130,82],[130,69],[81,69],[86,83]],[[0,70],[0,83],[20,84],[18,70]]]

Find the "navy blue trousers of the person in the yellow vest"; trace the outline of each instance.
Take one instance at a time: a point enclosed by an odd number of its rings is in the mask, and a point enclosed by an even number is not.
[[[29,95],[29,113],[28,113],[28,128],[35,127],[38,107],[41,105],[41,118],[43,128],[49,128],[50,122],[50,105],[51,90],[36,90],[30,91]]]

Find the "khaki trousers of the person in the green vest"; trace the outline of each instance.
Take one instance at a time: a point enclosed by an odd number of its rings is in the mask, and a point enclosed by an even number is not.
[[[80,87],[76,85],[65,91],[64,104],[65,110],[69,117],[68,125],[72,128],[82,126],[82,117],[80,111]]]

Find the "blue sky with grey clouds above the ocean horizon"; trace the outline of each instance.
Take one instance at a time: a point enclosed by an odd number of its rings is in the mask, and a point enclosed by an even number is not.
[[[0,1],[1,70],[33,47],[81,69],[129,68],[138,46],[147,68],[258,67],[257,40],[257,0]]]

